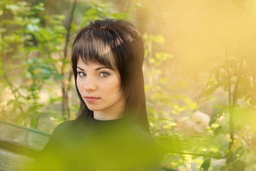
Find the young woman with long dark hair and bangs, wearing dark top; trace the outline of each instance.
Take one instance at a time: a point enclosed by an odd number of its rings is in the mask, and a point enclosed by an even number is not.
[[[96,20],[72,46],[78,117],[59,125],[36,160],[37,171],[161,171],[148,128],[144,45],[123,20]]]

